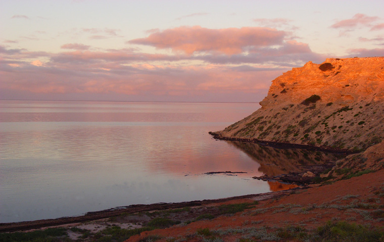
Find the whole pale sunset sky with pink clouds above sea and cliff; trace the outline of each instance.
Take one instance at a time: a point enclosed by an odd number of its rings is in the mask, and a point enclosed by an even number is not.
[[[259,102],[328,57],[384,56],[384,1],[0,0],[0,99]]]

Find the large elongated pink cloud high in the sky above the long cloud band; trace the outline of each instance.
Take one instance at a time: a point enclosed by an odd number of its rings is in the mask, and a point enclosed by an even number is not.
[[[241,53],[249,46],[281,44],[285,35],[284,31],[261,27],[208,29],[194,26],[157,31],[128,43],[171,48],[189,55],[200,51],[231,55]]]

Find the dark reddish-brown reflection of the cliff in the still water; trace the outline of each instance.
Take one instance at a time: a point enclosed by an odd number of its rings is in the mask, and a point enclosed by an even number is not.
[[[260,164],[259,171],[267,175],[300,172],[308,165],[335,162],[340,154],[305,149],[277,149],[256,143],[228,141]],[[272,187],[271,187],[272,188]]]

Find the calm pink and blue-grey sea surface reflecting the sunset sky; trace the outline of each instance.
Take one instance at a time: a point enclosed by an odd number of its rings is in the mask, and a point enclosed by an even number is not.
[[[0,222],[269,192],[255,158],[208,134],[259,107],[2,100]]]

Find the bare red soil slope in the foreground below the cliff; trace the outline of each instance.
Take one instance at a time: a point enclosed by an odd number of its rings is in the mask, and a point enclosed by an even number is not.
[[[202,228],[225,230],[267,226],[269,230],[273,230],[288,225],[300,225],[310,230],[322,226],[329,220],[383,226],[382,219],[377,219],[374,213],[378,208],[382,208],[380,198],[383,195],[384,169],[381,169],[351,179],[340,180],[331,185],[285,193],[277,199],[260,201],[254,208],[238,212],[233,216],[220,216],[188,225],[174,225],[166,229],[145,231],[126,241],[139,241],[149,235],[161,236],[162,238],[157,240],[159,242],[167,241],[167,237],[184,237],[187,241],[200,241],[199,236],[188,235],[195,234]],[[254,199],[232,200],[224,204],[244,202],[254,202]],[[239,236],[241,235],[231,234],[224,235],[223,238],[224,241],[235,241]]]

